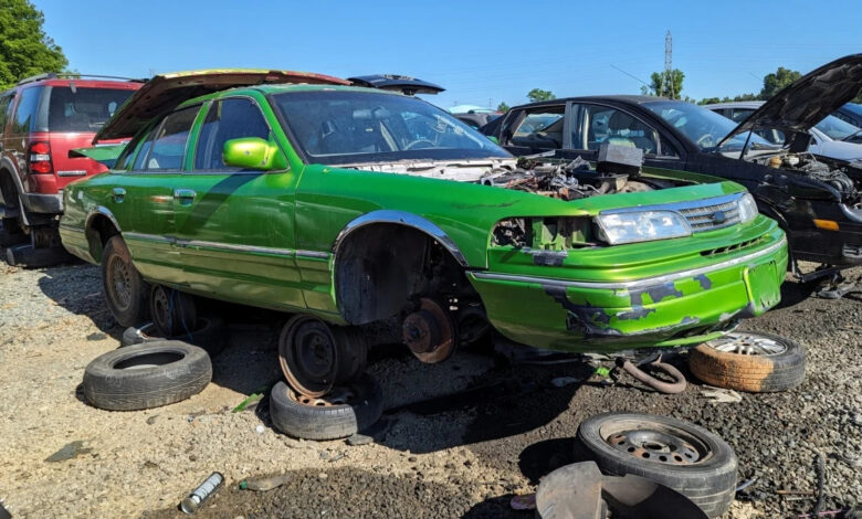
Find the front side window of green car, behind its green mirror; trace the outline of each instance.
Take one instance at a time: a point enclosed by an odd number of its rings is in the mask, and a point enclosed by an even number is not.
[[[270,127],[257,105],[246,98],[221,99],[210,105],[195,151],[195,170],[234,170],[224,165],[224,142],[242,137],[270,139]]]

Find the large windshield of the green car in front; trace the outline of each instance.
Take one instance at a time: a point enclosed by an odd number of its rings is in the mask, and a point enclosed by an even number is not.
[[[273,96],[296,144],[330,165],[512,156],[452,115],[414,97],[370,92]]]

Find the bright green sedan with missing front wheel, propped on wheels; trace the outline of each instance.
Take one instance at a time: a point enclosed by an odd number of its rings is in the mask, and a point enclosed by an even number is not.
[[[189,295],[295,314],[280,354],[306,394],[355,377],[371,335],[427,362],[490,327],[564,351],[674,347],[780,298],[785,235],[739,184],[616,147],[518,160],[334,77],[156,76],[96,137],[132,140],[81,150],[116,161],[65,190],[60,231],[102,265],[116,320],[169,331]]]

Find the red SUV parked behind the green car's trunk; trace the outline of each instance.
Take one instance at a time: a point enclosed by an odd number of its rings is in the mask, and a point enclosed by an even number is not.
[[[0,245],[60,246],[63,188],[106,170],[69,151],[92,146],[96,131],[141,84],[42,74],[0,94]]]

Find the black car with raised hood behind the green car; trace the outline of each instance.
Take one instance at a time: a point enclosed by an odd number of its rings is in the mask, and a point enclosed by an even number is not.
[[[823,295],[838,297],[840,269],[862,265],[862,162],[808,153],[807,133],[862,86],[862,54],[801,77],[736,123],[691,103],[649,96],[589,96],[517,106],[482,128],[517,156],[558,150],[595,160],[602,144],[643,150],[644,165],[723,177],[744,184],[760,212],[788,234],[797,261],[822,264]],[[755,131],[784,131],[784,146]]]

